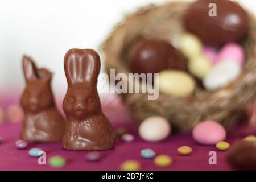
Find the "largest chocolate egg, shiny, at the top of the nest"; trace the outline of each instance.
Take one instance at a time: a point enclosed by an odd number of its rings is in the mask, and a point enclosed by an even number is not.
[[[248,22],[246,11],[229,0],[198,0],[184,15],[187,30],[212,46],[241,40],[248,30]]]

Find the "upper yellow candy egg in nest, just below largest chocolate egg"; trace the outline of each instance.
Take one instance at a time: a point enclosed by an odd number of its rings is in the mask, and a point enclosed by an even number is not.
[[[202,54],[203,44],[200,39],[193,34],[183,34],[180,38],[180,51],[188,58]]]

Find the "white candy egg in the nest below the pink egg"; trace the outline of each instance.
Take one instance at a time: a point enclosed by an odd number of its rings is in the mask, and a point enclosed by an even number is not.
[[[236,80],[240,73],[241,67],[236,61],[221,61],[215,64],[204,77],[203,84],[208,90],[216,90]]]

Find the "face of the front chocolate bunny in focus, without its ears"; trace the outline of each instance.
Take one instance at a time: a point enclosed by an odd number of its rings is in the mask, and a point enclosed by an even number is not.
[[[65,114],[78,119],[88,117],[100,110],[100,99],[96,88],[86,84],[73,85],[68,89],[64,98],[63,109]]]

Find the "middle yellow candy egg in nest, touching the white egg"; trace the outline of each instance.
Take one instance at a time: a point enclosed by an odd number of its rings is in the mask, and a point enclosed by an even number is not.
[[[204,78],[212,68],[212,63],[203,54],[197,55],[189,60],[189,71],[198,78]]]

